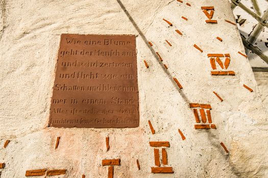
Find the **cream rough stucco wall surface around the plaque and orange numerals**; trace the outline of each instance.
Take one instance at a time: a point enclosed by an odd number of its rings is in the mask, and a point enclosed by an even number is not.
[[[227,0],[121,1],[164,64],[117,1],[2,1],[0,72],[0,163],[2,178],[24,177],[30,169],[67,169],[58,177],[107,177],[102,159],[120,158],[114,177],[266,177],[267,112]],[[214,6],[217,24],[206,24],[201,6]],[[181,18],[185,16],[188,21]],[[168,27],[162,18],[173,22]],[[183,36],[179,36],[179,29]],[[140,126],[133,129],[47,128],[60,35],[137,35]],[[223,42],[215,39],[220,36]],[[170,41],[168,46],[164,40]],[[200,46],[201,53],[193,44]],[[235,76],[211,76],[207,53],[230,53]],[[150,68],[145,68],[143,60]],[[170,77],[183,86],[178,91]],[[250,86],[250,93],[243,84]],[[213,91],[224,101],[218,100]],[[189,103],[211,104],[216,130],[195,130]],[[148,120],[156,134],[152,135]],[[178,129],[186,139],[182,140]],[[110,137],[106,151],[105,137]],[[60,144],[55,151],[55,142]],[[153,174],[149,141],[169,141],[174,174]],[[230,154],[220,145],[224,142]],[[2,147],[2,146],[1,146]],[[141,170],[137,169],[139,159]],[[42,177],[42,176],[41,176]],[[56,176],[55,176],[56,177]]]

